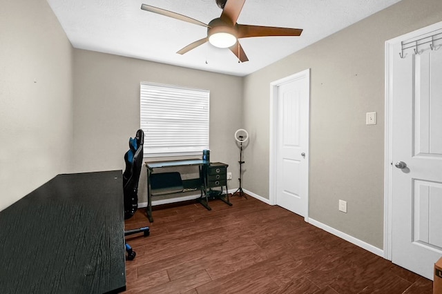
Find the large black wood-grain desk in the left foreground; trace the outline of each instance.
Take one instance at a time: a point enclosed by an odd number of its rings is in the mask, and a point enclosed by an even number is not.
[[[2,210],[0,292],[124,291],[122,186],[122,170],[57,175]]]

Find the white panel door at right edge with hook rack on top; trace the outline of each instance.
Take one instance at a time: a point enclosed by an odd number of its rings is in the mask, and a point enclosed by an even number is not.
[[[442,50],[403,52],[399,41],[392,51],[392,262],[433,280],[442,256]]]

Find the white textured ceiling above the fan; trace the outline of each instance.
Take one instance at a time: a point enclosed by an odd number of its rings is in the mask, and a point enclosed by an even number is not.
[[[300,37],[240,39],[249,61],[206,43],[206,28],[141,10],[142,3],[204,23],[220,17],[215,0],[47,0],[75,48],[169,63],[230,75],[248,75],[360,21],[399,0],[247,0],[238,23],[302,28]],[[235,0],[229,0],[235,1]]]

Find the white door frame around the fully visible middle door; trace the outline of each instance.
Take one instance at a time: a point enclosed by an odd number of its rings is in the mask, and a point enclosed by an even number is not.
[[[307,111],[310,112],[310,69],[302,70],[301,72],[297,72],[293,75],[289,75],[288,77],[283,77],[282,79],[278,79],[276,81],[272,81],[270,83],[270,147],[269,147],[269,204],[276,205],[276,164],[277,164],[277,134],[278,130],[276,130],[276,126],[278,126],[276,120],[278,119],[278,86],[282,84],[286,84],[289,81],[296,81],[298,79],[307,79],[307,97],[309,99],[309,103],[307,104]],[[310,146],[310,113],[309,113],[309,129],[307,130],[307,173],[310,170],[309,164],[309,146]],[[309,219],[309,175],[307,175],[307,201],[305,202],[307,207],[305,208],[305,221],[308,222]]]

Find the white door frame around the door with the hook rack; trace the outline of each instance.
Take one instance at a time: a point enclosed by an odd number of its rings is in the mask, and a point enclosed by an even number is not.
[[[393,55],[399,54],[393,50],[394,44],[419,35],[439,30],[442,21],[425,28],[408,32],[394,39],[385,41],[385,149],[384,149],[384,258],[392,260],[392,111],[393,111]],[[407,58],[407,57],[405,57]],[[410,57],[408,57],[410,58]]]

